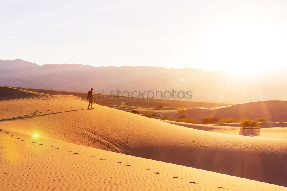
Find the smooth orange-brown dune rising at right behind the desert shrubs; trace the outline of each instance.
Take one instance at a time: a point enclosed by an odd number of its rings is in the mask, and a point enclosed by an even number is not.
[[[187,117],[197,118],[199,122],[206,116],[216,116],[218,118],[227,117],[247,117],[255,120],[259,117],[276,117],[278,122],[287,121],[287,101],[260,101],[218,108],[190,108],[184,110],[182,114]],[[174,113],[170,116],[178,117],[181,114]]]

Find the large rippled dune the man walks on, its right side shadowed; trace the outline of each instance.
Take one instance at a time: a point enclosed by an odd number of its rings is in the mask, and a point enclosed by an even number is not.
[[[21,99],[1,101],[1,127],[287,186],[286,139],[201,131],[96,104],[86,110],[82,100],[41,93],[23,98],[18,89],[3,90],[17,91]]]

